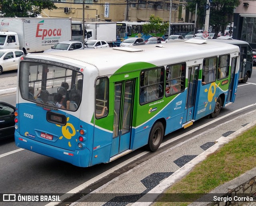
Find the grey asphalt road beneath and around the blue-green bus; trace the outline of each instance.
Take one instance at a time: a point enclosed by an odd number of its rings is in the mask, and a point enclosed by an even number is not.
[[[255,67],[254,67],[255,68]],[[14,76],[13,73],[6,73],[6,75]],[[4,74],[3,74],[4,75]],[[1,77],[2,78],[2,75]],[[226,108],[222,108],[219,117],[229,114],[239,108],[243,108],[250,104],[256,103],[256,68],[253,69],[252,77],[248,80],[246,84],[238,84],[238,90],[236,94],[236,100],[234,104]],[[8,94],[0,96],[0,101],[9,102],[10,104],[15,105],[16,94]],[[206,129],[214,128],[218,124],[226,122],[239,116],[241,114],[245,114],[251,110],[255,110],[256,106],[251,106],[250,108],[244,109],[236,114],[230,115],[227,118],[220,120],[220,122],[216,122],[214,124],[210,124],[205,128],[198,129],[192,135],[197,135],[205,131]],[[164,137],[163,141],[167,141],[176,137],[186,131],[190,131],[191,129],[198,128],[212,119],[202,118],[194,122],[192,126],[186,129],[179,129]],[[38,123],[40,124],[40,123]],[[133,161],[122,169],[110,174],[105,179],[100,180],[97,184],[90,186],[87,188],[86,192],[90,192],[102,184],[108,182],[114,177],[128,171],[132,167],[142,163],[143,161],[155,156],[156,154],[164,151],[166,148],[170,148],[174,146],[174,144],[178,144],[181,141],[184,141],[192,136],[185,136],[171,143],[167,147],[161,148],[155,153],[148,153],[143,157]],[[128,155],[117,159],[108,164],[100,164],[94,165],[89,168],[80,168],[70,165],[68,163],[58,161],[56,159],[46,157],[43,155],[38,155],[36,153],[21,150],[15,153],[12,151],[16,151],[19,149],[15,146],[14,139],[7,139],[0,141],[0,193],[65,193],[73,188],[79,186],[80,184],[102,174],[103,172],[115,167],[116,165],[122,163],[125,160],[128,160],[135,155],[138,155],[145,151],[144,148],[138,149]],[[6,153],[10,153],[6,155]],[[4,156],[5,155],[5,156]],[[15,205],[15,203],[13,203]],[[46,203],[41,202],[37,203],[37,205],[45,205]],[[0,203],[0,205],[4,205],[4,203]],[[8,204],[12,205],[12,204]],[[34,205],[34,203],[25,203],[23,205]]]

